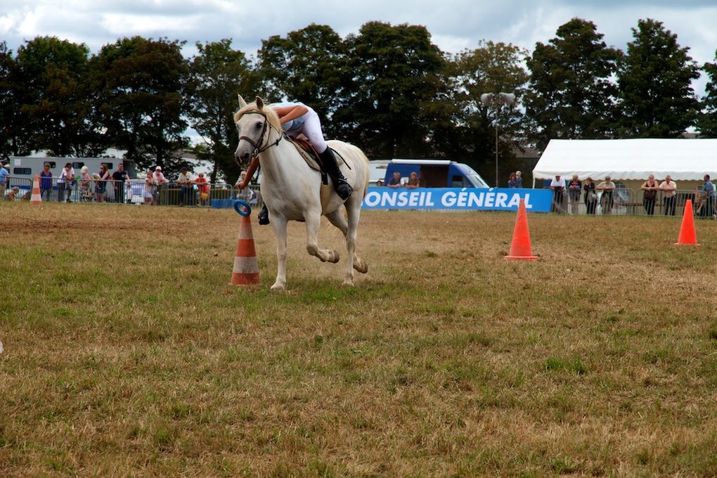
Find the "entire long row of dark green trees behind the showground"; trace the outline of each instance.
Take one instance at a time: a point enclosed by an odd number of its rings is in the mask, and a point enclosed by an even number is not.
[[[139,168],[177,170],[194,152],[214,176],[233,181],[237,93],[247,100],[298,100],[320,115],[328,138],[356,143],[372,158],[450,158],[487,178],[498,156],[551,138],[677,137],[717,134],[717,62],[700,67],[660,21],[640,20],[625,52],[608,47],[592,21],[571,19],[532,52],[480,42],[442,52],[426,27],[381,21],[342,38],[327,25],[262,41],[251,57],[231,39],[196,44],[121,38],[91,54],[56,37],[0,41],[0,154],[44,150],[94,156],[126,150]],[[485,92],[512,92],[513,105],[485,107]]]

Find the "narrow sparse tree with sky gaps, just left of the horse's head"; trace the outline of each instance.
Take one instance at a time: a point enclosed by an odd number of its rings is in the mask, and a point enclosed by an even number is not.
[[[197,158],[212,161],[211,181],[222,171],[228,181],[239,177],[234,161],[237,130],[232,115],[237,110],[237,93],[250,98],[258,90],[258,78],[244,53],[233,50],[231,39],[197,43],[199,52],[191,59],[189,119],[191,127],[203,139],[196,145]]]

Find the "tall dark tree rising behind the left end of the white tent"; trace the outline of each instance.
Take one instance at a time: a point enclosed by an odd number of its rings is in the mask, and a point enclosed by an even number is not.
[[[551,138],[612,135],[617,89],[611,77],[620,53],[602,37],[592,21],[571,19],[548,44],[536,44],[525,104],[538,148]]]

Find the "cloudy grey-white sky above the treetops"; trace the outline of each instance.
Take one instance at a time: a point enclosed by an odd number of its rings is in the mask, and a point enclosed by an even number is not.
[[[125,36],[167,37],[188,42],[232,38],[254,55],[261,40],[310,23],[326,24],[341,36],[366,21],[422,24],[445,52],[475,48],[481,39],[532,50],[577,16],[594,21],[607,44],[625,49],[638,19],[663,21],[690,47],[699,63],[717,49],[717,1],[637,0],[0,0],[0,41],[16,50],[25,40],[54,35],[87,44],[93,52]],[[698,87],[703,82],[698,82]],[[698,93],[702,93],[698,91]]]

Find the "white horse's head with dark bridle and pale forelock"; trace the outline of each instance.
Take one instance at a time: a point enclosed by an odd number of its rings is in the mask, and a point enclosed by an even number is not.
[[[234,125],[237,126],[239,144],[234,151],[234,158],[241,165],[267,149],[271,143],[272,129],[278,138],[281,138],[281,125],[279,117],[270,107],[264,105],[264,100],[257,96],[257,100],[247,104],[239,95],[239,111],[234,113]],[[278,141],[277,138],[277,141]]]

